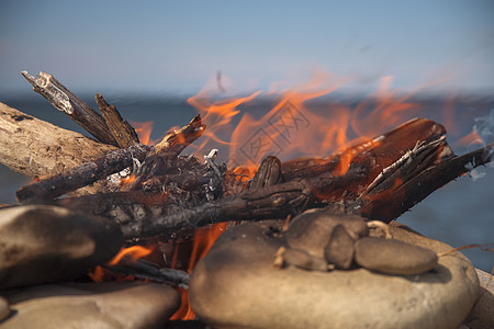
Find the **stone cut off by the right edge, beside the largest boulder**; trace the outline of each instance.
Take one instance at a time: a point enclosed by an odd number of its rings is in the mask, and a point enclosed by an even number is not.
[[[494,277],[490,273],[475,269],[481,292],[464,325],[470,329],[494,328]]]

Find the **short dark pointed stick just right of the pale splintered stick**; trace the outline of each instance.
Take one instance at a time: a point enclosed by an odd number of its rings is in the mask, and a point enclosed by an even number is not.
[[[115,138],[121,148],[130,147],[134,144],[139,144],[139,137],[135,129],[120,115],[114,105],[110,105],[100,93],[96,94],[98,107],[103,114],[106,126],[110,133]]]

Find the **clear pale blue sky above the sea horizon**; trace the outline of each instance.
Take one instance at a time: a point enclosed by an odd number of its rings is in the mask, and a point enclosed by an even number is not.
[[[75,92],[242,90],[314,71],[373,90],[494,90],[494,1],[0,1],[0,95],[21,70]]]

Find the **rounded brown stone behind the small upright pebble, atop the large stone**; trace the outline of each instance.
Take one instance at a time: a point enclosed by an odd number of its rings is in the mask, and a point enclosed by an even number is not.
[[[284,234],[287,243],[324,258],[324,247],[336,225],[343,225],[353,240],[369,235],[369,228],[360,216],[332,215],[326,209],[310,209],[293,218]]]

